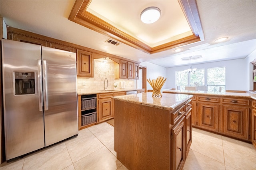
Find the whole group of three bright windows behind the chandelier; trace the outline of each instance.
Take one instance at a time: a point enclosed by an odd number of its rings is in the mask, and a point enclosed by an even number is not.
[[[195,74],[176,71],[176,89],[185,90],[185,86],[207,86],[208,91],[226,90],[226,67],[197,69]]]

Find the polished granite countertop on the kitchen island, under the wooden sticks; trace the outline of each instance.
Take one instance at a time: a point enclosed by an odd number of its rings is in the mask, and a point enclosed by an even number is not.
[[[113,99],[172,111],[180,105],[184,104],[185,101],[192,97],[192,95],[188,94],[162,93],[161,98],[153,98],[152,92],[147,92],[140,94],[130,94],[126,96],[117,96],[113,97]]]

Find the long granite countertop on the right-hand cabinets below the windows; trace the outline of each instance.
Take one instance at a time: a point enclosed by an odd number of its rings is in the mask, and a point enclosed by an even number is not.
[[[242,98],[252,98],[252,99],[256,100],[256,94],[252,94],[252,93],[211,92],[211,91],[192,91],[192,90],[165,90],[165,91],[163,91],[163,93],[242,97]]]

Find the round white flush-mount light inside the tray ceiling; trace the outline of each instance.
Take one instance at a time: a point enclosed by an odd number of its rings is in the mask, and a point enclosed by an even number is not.
[[[148,7],[140,14],[140,20],[144,23],[154,23],[160,18],[161,10],[157,7]]]

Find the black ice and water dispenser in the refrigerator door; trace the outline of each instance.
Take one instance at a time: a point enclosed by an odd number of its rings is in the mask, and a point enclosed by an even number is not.
[[[15,95],[35,94],[35,73],[14,72]]]

